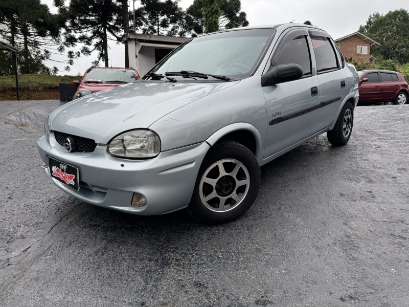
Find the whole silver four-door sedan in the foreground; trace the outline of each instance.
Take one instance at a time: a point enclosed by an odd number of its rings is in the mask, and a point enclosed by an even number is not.
[[[38,150],[53,183],[84,202],[139,215],[187,207],[223,223],[253,205],[261,165],[323,133],[345,145],[358,95],[327,32],[230,29],[188,40],[142,80],[55,109]]]

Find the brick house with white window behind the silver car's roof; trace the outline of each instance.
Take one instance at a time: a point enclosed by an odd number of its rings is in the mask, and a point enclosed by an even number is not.
[[[379,42],[360,32],[335,39],[335,42],[345,58],[352,58],[357,63],[361,61],[371,62],[375,59],[371,56],[371,47],[374,45],[380,46]]]

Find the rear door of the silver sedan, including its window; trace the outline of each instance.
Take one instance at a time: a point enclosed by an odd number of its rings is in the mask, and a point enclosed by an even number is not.
[[[320,112],[315,130],[321,131],[332,125],[339,108],[347,95],[347,76],[345,62],[339,57],[335,42],[328,33],[309,30],[316,74],[320,83]]]

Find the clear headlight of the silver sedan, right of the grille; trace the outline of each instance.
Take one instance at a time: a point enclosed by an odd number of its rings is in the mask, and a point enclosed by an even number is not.
[[[132,130],[125,132],[108,144],[112,156],[129,159],[146,159],[159,155],[161,140],[149,130]]]

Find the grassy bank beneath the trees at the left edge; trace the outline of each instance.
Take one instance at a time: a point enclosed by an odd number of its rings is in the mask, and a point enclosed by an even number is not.
[[[18,75],[20,91],[42,91],[58,89],[58,83],[71,83],[82,76]],[[0,76],[0,91],[15,91],[15,76]]]

